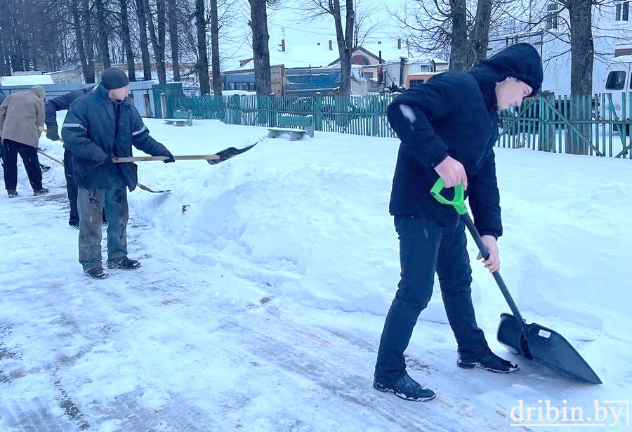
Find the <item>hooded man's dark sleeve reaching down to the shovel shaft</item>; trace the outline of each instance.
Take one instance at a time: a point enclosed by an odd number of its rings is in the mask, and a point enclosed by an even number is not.
[[[475,176],[469,178],[468,194],[474,225],[480,235],[503,235],[500,193],[496,181],[496,157],[489,152]]]

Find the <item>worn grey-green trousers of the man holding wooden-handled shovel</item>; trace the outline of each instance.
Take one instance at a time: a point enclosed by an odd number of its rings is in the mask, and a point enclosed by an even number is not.
[[[79,209],[79,263],[84,270],[102,266],[101,215],[107,216],[107,262],[127,256],[127,188],[121,178],[107,189],[77,190]]]

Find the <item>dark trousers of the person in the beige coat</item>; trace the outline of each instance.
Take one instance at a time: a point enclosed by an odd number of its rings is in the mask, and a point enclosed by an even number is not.
[[[6,190],[18,188],[18,154],[29,176],[29,182],[33,190],[41,189],[41,169],[37,148],[32,145],[16,143],[12,140],[4,140],[2,146],[2,162],[4,167],[4,187]]]

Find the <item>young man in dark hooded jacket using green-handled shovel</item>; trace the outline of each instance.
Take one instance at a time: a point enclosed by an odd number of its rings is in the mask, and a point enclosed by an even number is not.
[[[402,93],[388,107],[388,120],[401,140],[390,198],[400,238],[401,279],[380,339],[374,387],[405,400],[430,400],[435,393],[409,377],[404,363],[416,320],[439,276],[447,318],[457,343],[457,365],[490,372],[518,370],[487,346],[472,304],[465,225],[430,188],[442,178],[447,188],[462,184],[476,228],[489,250],[483,261],[499,270],[496,239],[502,235],[494,143],[498,110],[518,107],[540,89],[541,59],[529,44],[503,49],[468,72],[446,72]],[[478,259],[482,257],[479,255]]]

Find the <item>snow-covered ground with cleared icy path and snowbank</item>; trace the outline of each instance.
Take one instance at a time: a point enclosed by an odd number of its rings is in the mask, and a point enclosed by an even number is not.
[[[176,155],[267,135],[212,120],[146,123]],[[41,146],[62,157],[59,143]],[[20,196],[0,195],[0,431],[629,428],[630,160],[496,150],[503,278],[527,322],[565,336],[603,385],[500,346],[508,306],[473,259],[480,327],[520,372],[456,367],[435,292],[407,360],[437,399],[371,388],[399,275],[388,215],[397,146],[317,131],[216,166],[140,162],[140,183],[172,192],[129,195],[129,256],[143,266],[107,280],[81,273],[62,167],[41,157],[51,193],[32,197],[20,166]]]

